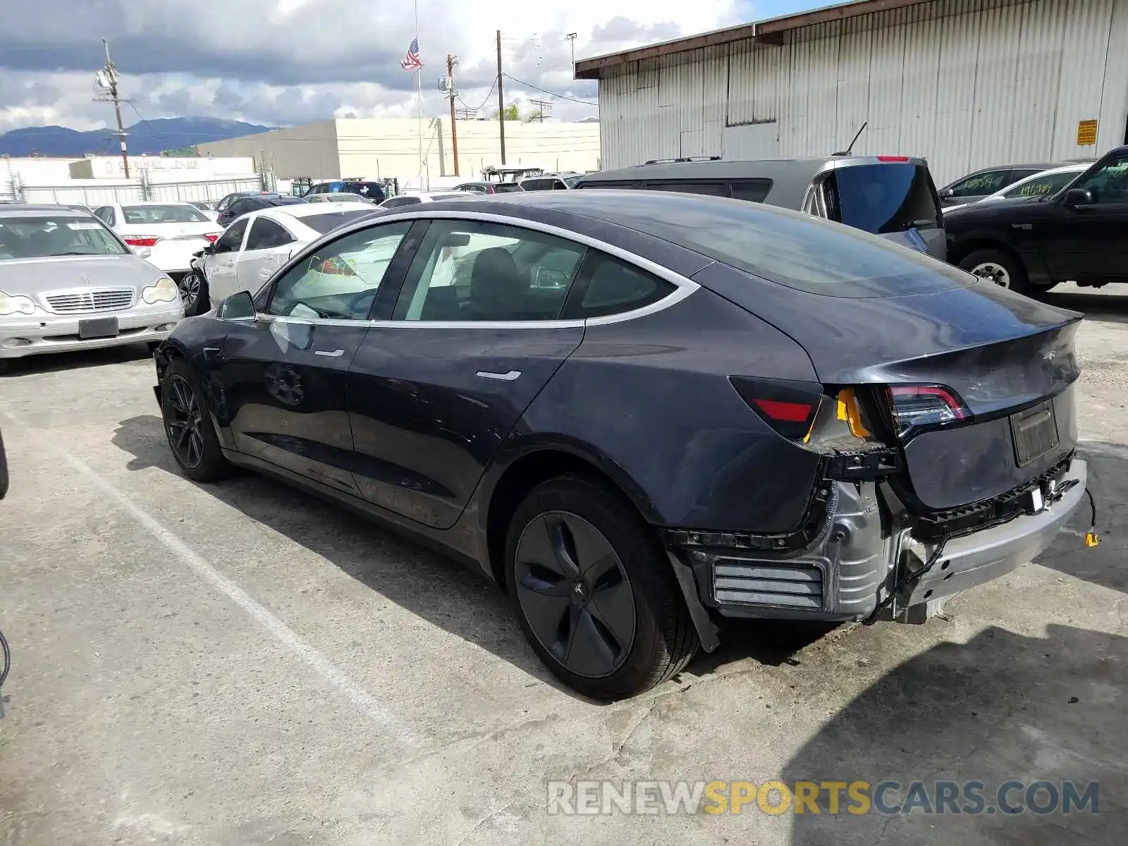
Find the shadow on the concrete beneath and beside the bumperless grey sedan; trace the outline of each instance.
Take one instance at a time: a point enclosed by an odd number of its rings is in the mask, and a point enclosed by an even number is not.
[[[132,456],[127,469],[156,467],[183,477],[156,415],[122,421],[112,442]],[[476,571],[335,503],[258,474],[239,473],[219,484],[196,487],[320,555],[412,614],[481,645],[571,696],[584,698],[548,673],[526,643],[509,598]],[[792,662],[796,652],[830,628],[734,622],[728,627],[730,641],[711,654],[699,652],[689,669],[705,676],[731,661],[752,659],[769,666]]]

